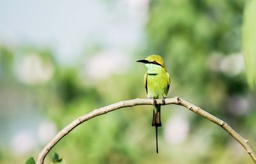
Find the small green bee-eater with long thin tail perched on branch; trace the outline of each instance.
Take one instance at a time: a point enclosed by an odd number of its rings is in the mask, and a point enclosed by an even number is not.
[[[144,85],[147,91],[147,98],[164,98],[168,94],[170,87],[170,76],[164,66],[164,60],[161,56],[151,55],[144,60],[137,62],[145,63],[147,73],[144,75]],[[154,105],[152,126],[156,126],[156,152],[158,153],[157,144],[157,127],[161,124],[161,105]]]

